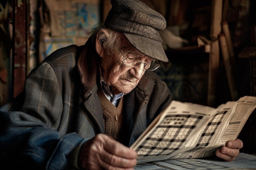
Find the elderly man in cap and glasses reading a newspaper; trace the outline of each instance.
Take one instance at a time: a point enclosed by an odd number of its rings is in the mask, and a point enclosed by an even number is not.
[[[0,159],[9,169],[129,170],[129,146],[171,102],[153,72],[168,62],[159,30],[166,21],[138,0],[112,0],[104,26],[84,46],[59,49],[1,108]],[[234,160],[242,141],[216,155]],[[1,166],[2,166],[1,163]]]

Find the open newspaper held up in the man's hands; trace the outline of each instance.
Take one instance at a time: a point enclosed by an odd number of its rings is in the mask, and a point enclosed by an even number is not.
[[[238,137],[256,108],[256,97],[245,96],[212,108],[173,100],[130,148],[138,163],[215,154]]]

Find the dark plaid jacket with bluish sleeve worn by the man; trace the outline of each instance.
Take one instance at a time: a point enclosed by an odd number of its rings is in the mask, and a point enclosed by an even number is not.
[[[104,133],[99,60],[88,40],[55,51],[31,71],[24,91],[0,109],[1,164],[67,169],[67,157],[81,141]],[[130,146],[170,102],[166,84],[146,71],[124,96],[124,145]]]

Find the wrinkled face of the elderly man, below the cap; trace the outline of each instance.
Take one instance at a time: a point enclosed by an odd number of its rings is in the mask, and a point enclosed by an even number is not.
[[[124,35],[121,35],[124,36]],[[130,53],[136,55],[142,62],[148,61],[149,57],[139,52],[134,46],[129,50],[124,50],[130,42],[125,38],[122,38],[120,51],[115,51],[112,56],[102,56],[101,67],[103,69],[103,75],[106,83],[110,86],[113,94],[129,93],[133,88],[137,86],[139,80],[145,73],[144,64],[140,64],[136,67],[128,67],[123,64],[123,55],[126,57]],[[127,52],[123,52],[127,51]],[[123,54],[123,55],[122,55]]]

